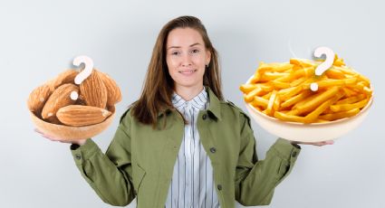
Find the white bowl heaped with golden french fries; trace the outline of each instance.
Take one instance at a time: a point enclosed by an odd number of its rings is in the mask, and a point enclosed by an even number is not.
[[[271,134],[300,142],[333,140],[357,128],[371,108],[371,81],[338,56],[315,76],[321,63],[261,62],[240,86],[251,117]],[[311,90],[312,83],[318,90]]]

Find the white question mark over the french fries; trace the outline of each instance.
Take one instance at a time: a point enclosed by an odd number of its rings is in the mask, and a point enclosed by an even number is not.
[[[320,65],[318,65],[317,69],[315,69],[315,75],[321,76],[324,71],[327,71],[334,62],[334,52],[332,52],[332,49],[328,47],[318,47],[314,51],[314,56],[317,58],[321,58],[321,56],[325,54],[326,60],[323,61]],[[313,82],[310,84],[310,89],[313,91],[318,90],[318,84]]]

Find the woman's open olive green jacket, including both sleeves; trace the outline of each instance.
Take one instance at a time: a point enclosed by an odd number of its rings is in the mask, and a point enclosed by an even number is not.
[[[279,138],[258,160],[250,119],[207,87],[209,108],[197,119],[200,140],[211,160],[222,208],[268,204],[274,188],[294,166],[298,147]],[[139,208],[164,207],[184,133],[177,109],[159,113],[159,128],[143,125],[127,110],[105,154],[91,140],[72,145],[72,156],[85,180],[105,203],[125,206],[137,197]],[[167,118],[166,126],[163,121]]]

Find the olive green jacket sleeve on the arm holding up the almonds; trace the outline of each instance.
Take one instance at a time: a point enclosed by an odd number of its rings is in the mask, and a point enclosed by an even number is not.
[[[135,198],[128,125],[127,119],[120,118],[106,154],[91,138],[81,147],[71,146],[73,159],[84,179],[103,202],[115,206],[125,206]]]

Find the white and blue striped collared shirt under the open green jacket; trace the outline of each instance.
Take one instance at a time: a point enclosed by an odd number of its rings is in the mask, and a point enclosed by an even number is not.
[[[194,99],[186,101],[174,92],[172,104],[188,120],[165,207],[219,207],[210,158],[200,143],[197,131],[199,110],[208,108],[204,88]]]

